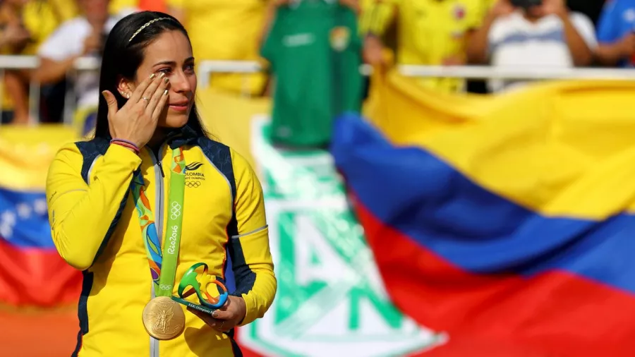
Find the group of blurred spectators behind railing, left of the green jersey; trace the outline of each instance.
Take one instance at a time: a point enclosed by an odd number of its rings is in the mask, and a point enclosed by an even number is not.
[[[94,111],[99,73],[74,71],[73,65],[80,57],[99,59],[116,20],[140,10],[163,11],[181,20],[198,61],[259,58],[264,0],[0,0],[1,54],[40,59],[38,68],[3,71],[2,121],[32,121],[30,83],[40,83],[40,122],[61,121],[69,102],[82,116]],[[218,74],[211,84],[228,92],[261,95],[265,80],[262,73]]]

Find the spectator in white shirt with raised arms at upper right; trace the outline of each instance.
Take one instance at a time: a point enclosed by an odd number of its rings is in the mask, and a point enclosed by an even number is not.
[[[535,0],[534,0],[535,1]],[[564,0],[498,0],[481,28],[470,35],[467,47],[470,63],[491,66],[570,68],[588,66],[597,47],[595,29],[582,13],[569,12]],[[490,80],[492,92],[526,82]]]

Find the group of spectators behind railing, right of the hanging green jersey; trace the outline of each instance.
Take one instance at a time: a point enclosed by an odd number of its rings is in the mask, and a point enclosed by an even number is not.
[[[365,59],[373,63],[383,58],[385,29],[397,22],[394,47],[400,63],[562,68],[619,62],[629,66],[635,50],[631,40],[635,18],[629,20],[628,11],[635,15],[635,1],[377,1],[363,13]],[[425,78],[419,83],[446,92],[500,92],[521,85],[491,80],[485,88],[469,88],[464,80],[452,78]]]

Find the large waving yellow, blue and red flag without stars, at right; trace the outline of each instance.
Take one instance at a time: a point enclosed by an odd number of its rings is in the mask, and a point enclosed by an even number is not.
[[[373,85],[332,153],[423,356],[635,356],[635,84]]]

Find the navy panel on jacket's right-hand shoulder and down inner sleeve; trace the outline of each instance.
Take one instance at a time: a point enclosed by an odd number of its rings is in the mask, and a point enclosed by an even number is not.
[[[231,264],[231,272],[227,270],[226,266],[223,267],[223,271],[225,272],[225,282],[228,286],[232,285],[232,278],[234,280],[236,289],[231,295],[241,296],[241,294],[247,294],[253,288],[255,272],[250,269],[245,260],[241,240],[238,237],[238,220],[236,219],[235,210],[236,176],[234,175],[234,165],[231,162],[231,151],[228,146],[208,138],[199,138],[198,146],[203,154],[210,159],[210,162],[227,178],[231,187],[231,196],[234,198],[234,211],[231,212],[231,219],[227,224],[226,234],[228,241],[225,246],[226,255],[229,255],[228,259],[225,260],[225,265],[228,262]]]

